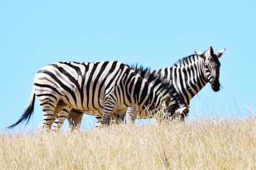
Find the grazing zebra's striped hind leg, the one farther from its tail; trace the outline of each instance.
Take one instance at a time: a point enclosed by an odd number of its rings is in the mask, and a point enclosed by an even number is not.
[[[72,108],[70,106],[65,106],[57,115],[54,121],[54,125],[52,125],[52,131],[59,132],[64,121],[68,117],[68,114]]]

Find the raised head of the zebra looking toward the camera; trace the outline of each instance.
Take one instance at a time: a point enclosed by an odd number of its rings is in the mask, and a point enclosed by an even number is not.
[[[226,49],[220,50],[218,53],[214,53],[212,46],[204,53],[195,52],[198,57],[204,59],[204,74],[207,82],[211,83],[212,90],[218,92],[220,90],[220,57]]]

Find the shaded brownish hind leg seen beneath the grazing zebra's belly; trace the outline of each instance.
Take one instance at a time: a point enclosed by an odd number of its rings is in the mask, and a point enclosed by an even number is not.
[[[79,130],[83,119],[83,112],[78,110],[71,110],[67,118],[70,132],[74,131],[74,129]]]

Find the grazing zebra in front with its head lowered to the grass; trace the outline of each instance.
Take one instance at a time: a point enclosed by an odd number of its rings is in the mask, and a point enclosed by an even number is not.
[[[144,78],[138,71],[145,73]],[[148,81],[151,83],[148,83]],[[55,62],[36,73],[28,107],[19,120],[8,128],[27,120],[33,113],[35,96],[44,119],[41,131],[49,131],[54,123],[58,131],[71,110],[102,116],[101,124],[108,125],[115,113],[140,111],[148,115],[164,104],[166,111],[183,114],[188,108],[175,89],[147,69],[131,69],[118,61]],[[164,101],[164,103],[161,103]],[[173,106],[179,105],[178,108]]]

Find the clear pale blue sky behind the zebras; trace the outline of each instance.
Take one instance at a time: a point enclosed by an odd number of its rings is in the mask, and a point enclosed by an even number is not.
[[[22,115],[35,73],[56,61],[172,66],[213,46],[223,89],[204,87],[190,115],[255,111],[256,1],[0,1],[0,127]],[[29,122],[42,120],[35,103]],[[239,110],[237,110],[239,108]],[[255,113],[255,112],[254,112]],[[84,117],[84,125],[93,117]]]

